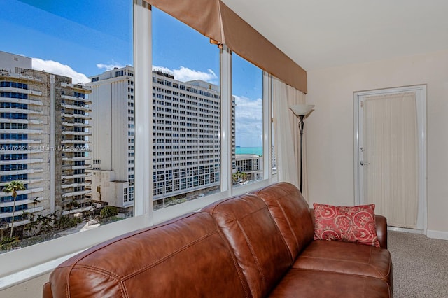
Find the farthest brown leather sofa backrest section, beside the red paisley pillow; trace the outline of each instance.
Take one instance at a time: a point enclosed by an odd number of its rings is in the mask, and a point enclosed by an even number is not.
[[[265,201],[295,259],[314,237],[314,223],[307,201],[297,187],[286,182],[269,185],[253,194]]]

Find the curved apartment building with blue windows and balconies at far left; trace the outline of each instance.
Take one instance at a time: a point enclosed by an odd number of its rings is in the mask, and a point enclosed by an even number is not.
[[[71,78],[31,69],[31,58],[0,52],[0,187],[20,180],[14,226],[23,212],[78,213],[86,195],[90,89]],[[73,204],[76,202],[76,204]],[[13,198],[0,192],[0,221],[11,222]]]

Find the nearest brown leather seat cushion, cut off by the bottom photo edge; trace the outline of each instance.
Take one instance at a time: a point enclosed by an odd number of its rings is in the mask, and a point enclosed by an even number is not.
[[[290,269],[269,297],[384,298],[391,288],[381,279],[330,271]]]

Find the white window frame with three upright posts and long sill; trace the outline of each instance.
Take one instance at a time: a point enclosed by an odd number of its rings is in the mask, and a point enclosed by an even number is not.
[[[112,222],[97,229],[52,239],[34,246],[0,255],[0,290],[52,271],[58,264],[86,248],[115,236],[164,222],[176,216],[200,210],[214,201],[244,194],[275,183],[271,171],[271,76],[263,72],[263,172],[264,180],[232,187],[232,51],[223,45],[221,69],[221,192],[193,201],[153,211],[153,80],[151,6],[143,0],[133,1],[134,14],[134,105],[135,109],[135,193],[134,217]],[[148,101],[148,98],[151,98]],[[149,117],[148,117],[149,115]],[[228,158],[230,157],[230,158]],[[145,183],[151,181],[151,183]],[[30,257],[32,256],[32,257]]]

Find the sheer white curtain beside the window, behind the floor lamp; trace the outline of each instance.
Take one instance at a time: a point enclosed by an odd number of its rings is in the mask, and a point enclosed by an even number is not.
[[[300,187],[300,134],[299,119],[289,106],[305,103],[305,94],[286,85],[278,78],[272,78],[274,112],[274,152],[279,181],[286,181]],[[306,121],[306,120],[305,120]],[[302,194],[307,199],[306,129],[303,134],[303,178]]]

